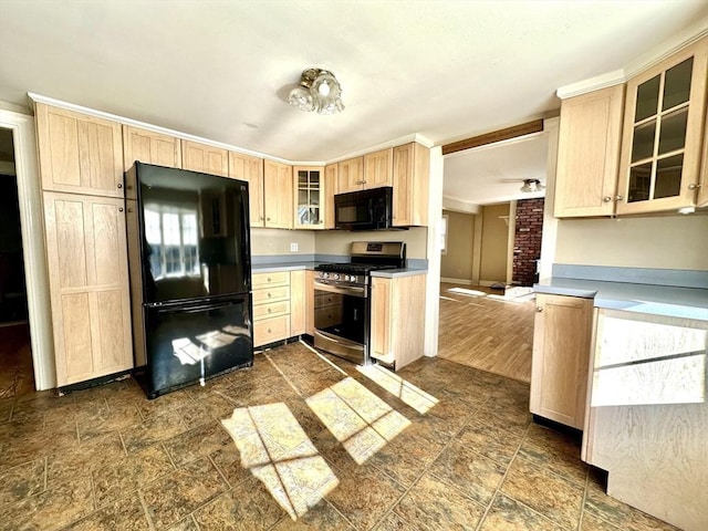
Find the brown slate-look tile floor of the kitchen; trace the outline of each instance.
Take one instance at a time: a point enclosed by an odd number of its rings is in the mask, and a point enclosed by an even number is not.
[[[133,379],[1,398],[0,529],[674,529],[605,496],[528,384],[372,376],[293,343],[152,402]]]

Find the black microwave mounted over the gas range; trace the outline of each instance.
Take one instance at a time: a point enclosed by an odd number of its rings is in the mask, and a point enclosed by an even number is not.
[[[393,227],[391,186],[334,196],[334,227],[344,230],[404,229]]]

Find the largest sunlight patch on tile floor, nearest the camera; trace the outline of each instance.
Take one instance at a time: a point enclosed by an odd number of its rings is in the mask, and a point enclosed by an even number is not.
[[[293,520],[340,483],[285,404],[237,408],[221,424],[236,442],[241,466]]]

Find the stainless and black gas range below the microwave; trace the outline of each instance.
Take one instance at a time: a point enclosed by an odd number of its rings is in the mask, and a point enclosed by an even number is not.
[[[353,241],[351,261],[315,268],[314,345],[351,362],[368,365],[371,273],[406,267],[402,241]]]

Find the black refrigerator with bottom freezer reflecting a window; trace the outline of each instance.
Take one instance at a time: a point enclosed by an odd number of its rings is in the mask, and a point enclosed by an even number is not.
[[[248,183],[136,162],[126,189],[142,300],[135,374],[147,397],[252,366]]]

